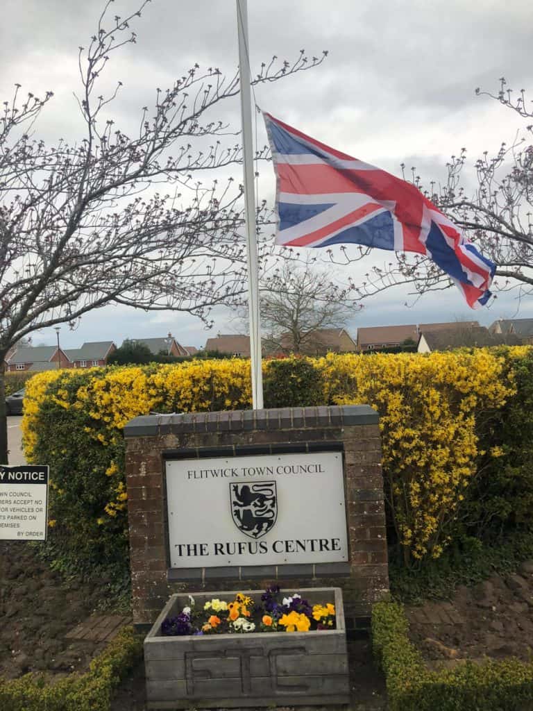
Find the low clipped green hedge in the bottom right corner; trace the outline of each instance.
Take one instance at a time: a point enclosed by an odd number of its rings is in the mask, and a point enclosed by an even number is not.
[[[533,702],[533,663],[466,661],[430,671],[407,631],[401,605],[375,604],[372,644],[387,681],[390,711],[525,711],[524,704]]]

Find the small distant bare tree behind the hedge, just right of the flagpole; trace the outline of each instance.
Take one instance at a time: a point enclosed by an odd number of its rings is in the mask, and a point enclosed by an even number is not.
[[[327,346],[325,328],[342,328],[360,306],[335,286],[328,272],[286,261],[260,285],[261,324],[267,351],[316,353]]]

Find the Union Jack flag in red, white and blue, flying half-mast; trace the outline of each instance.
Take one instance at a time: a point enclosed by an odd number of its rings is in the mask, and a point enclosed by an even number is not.
[[[486,304],[496,265],[411,183],[336,151],[264,114],[277,178],[276,243],[355,242],[431,258],[473,309]]]

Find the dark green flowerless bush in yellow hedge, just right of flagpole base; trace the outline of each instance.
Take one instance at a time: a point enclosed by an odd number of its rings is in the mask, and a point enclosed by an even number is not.
[[[323,405],[323,377],[311,358],[269,360],[263,393],[265,407]]]

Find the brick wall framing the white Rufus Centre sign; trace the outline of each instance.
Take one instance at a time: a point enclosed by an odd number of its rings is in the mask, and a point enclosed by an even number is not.
[[[367,405],[152,415],[133,419],[124,434],[136,624],[153,623],[175,592],[262,589],[277,580],[289,592],[342,587],[350,628],[357,619],[367,618],[372,603],[388,592],[378,415]],[[346,520],[348,560],[313,562],[311,555],[303,563],[203,567],[198,557],[187,567],[172,567],[168,461],[186,460],[188,471],[201,472],[202,460],[216,457],[237,462],[239,457],[253,461],[263,456],[266,461],[273,454],[281,459],[286,452],[294,456],[322,451],[336,452],[343,460],[345,508],[340,515]],[[195,459],[198,467],[190,464]],[[208,488],[205,491],[207,533],[210,503]]]

